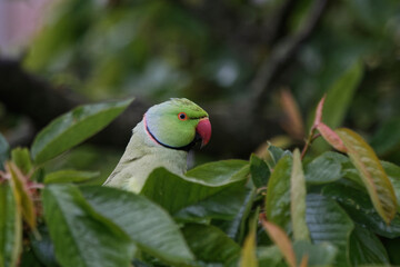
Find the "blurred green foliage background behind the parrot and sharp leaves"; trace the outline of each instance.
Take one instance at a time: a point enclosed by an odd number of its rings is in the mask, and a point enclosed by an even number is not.
[[[78,102],[134,96],[147,107],[171,97],[189,98],[210,111],[213,126],[210,148],[197,151],[203,155],[197,157],[200,161],[249,158],[257,149],[262,154],[267,140],[302,146],[316,105],[327,93],[327,125],[354,129],[379,157],[400,164],[398,0],[51,4],[46,24],[20,57],[11,59],[20,65],[13,69],[17,77],[33,77]],[[3,66],[10,62],[7,53],[0,60]],[[1,131],[13,146],[29,146],[29,135],[42,123],[31,113],[44,109],[48,98],[20,108],[18,103],[30,101],[23,100],[23,90],[36,88],[12,87],[22,90],[16,103],[7,97],[10,77],[0,75]],[[137,123],[127,121],[127,129]],[[17,138],[21,135],[28,138]],[[91,166],[107,172],[128,138],[129,130],[118,146],[84,145],[52,166]],[[324,149],[322,141],[312,146],[314,154]]]

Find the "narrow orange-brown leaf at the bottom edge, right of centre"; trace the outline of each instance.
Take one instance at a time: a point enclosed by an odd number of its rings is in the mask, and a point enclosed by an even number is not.
[[[290,267],[296,267],[296,255],[293,246],[287,234],[277,225],[261,219],[262,227],[268,233],[272,241],[279,247],[280,253],[283,255],[284,260]]]

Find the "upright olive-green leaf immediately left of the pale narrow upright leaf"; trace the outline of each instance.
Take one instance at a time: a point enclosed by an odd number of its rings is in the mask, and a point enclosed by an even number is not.
[[[266,215],[268,220],[290,230],[290,176],[292,159],[290,156],[281,158],[276,165],[268,181],[266,198]]]

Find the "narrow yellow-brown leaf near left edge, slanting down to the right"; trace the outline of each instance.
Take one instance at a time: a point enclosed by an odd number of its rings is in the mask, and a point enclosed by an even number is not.
[[[13,162],[6,164],[6,170],[11,176],[11,188],[17,200],[17,206],[22,212],[22,218],[31,229],[36,228],[36,210],[32,195],[28,188],[28,178],[17,168]]]

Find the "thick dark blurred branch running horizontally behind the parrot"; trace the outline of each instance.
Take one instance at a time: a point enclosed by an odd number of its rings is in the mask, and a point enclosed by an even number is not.
[[[50,83],[24,71],[18,61],[0,59],[0,99],[7,110],[28,117],[37,131],[52,119],[87,100],[73,97],[66,88],[53,88]],[[91,138],[90,142],[123,149],[131,136],[132,128],[142,119],[151,106],[136,99],[129,108],[106,129]],[[202,149],[217,158],[248,158],[268,137],[281,132],[277,122],[260,118],[251,123],[243,110],[243,102],[199,102],[210,115],[212,138]],[[269,126],[269,127],[266,127]],[[29,146],[30,144],[14,144]]]

